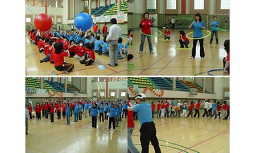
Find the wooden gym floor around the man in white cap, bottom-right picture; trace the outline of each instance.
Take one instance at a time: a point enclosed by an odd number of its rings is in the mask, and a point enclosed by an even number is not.
[[[193,112],[195,113],[195,112]],[[188,111],[187,111],[188,114]],[[203,115],[203,110],[200,111]],[[156,113],[155,113],[156,117]],[[212,118],[154,118],[162,152],[229,152],[229,120]],[[139,121],[134,121],[133,143],[141,151]],[[154,147],[150,143],[150,151]]]

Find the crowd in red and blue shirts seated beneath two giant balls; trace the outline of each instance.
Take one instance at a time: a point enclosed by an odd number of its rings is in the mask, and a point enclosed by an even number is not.
[[[66,63],[64,57],[74,57],[85,66],[92,65],[96,61],[95,53],[109,56],[108,42],[106,36],[97,36],[91,31],[46,31],[32,29],[28,30],[32,44],[38,46],[38,51],[45,54],[42,62],[54,63],[55,69],[63,73],[70,73],[74,67]],[[123,59],[127,52],[127,44],[122,45],[122,38],[118,40],[118,59]]]

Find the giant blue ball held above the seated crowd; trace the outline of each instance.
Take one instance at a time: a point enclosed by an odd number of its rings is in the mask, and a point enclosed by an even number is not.
[[[86,31],[90,27],[92,27],[93,19],[92,19],[92,16],[90,16],[89,14],[82,12],[82,13],[76,15],[74,23],[75,23],[75,27],[77,29]]]

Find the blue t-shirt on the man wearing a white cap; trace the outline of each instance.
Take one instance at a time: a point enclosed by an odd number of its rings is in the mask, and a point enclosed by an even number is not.
[[[141,103],[133,107],[133,111],[138,113],[139,123],[142,125],[145,122],[152,122],[151,106],[149,104]]]

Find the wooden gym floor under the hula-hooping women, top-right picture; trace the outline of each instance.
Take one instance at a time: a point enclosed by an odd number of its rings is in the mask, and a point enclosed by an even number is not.
[[[144,43],[144,50],[139,54],[139,45],[141,44],[140,30],[134,31],[134,40],[131,46],[128,46],[128,52],[134,55],[129,63],[134,63],[134,69],[128,70],[128,75],[208,75],[207,72],[213,69],[223,69],[222,59],[226,57],[224,50],[224,41],[229,39],[229,32],[219,31],[216,44],[213,39],[212,45],[209,44],[210,36],[204,39],[205,60],[200,58],[200,45],[197,42],[196,58],[190,59],[190,50],[177,50],[179,48],[179,29],[171,31],[171,40],[164,41],[164,30],[162,36],[151,37],[154,54],[150,54],[147,39]],[[185,33],[191,32],[191,29],[184,29]],[[156,30],[152,30],[152,35],[158,35]],[[206,33],[204,32],[204,35]],[[189,48],[192,48],[192,40],[189,40]],[[223,75],[222,71],[212,72],[213,75]]]

